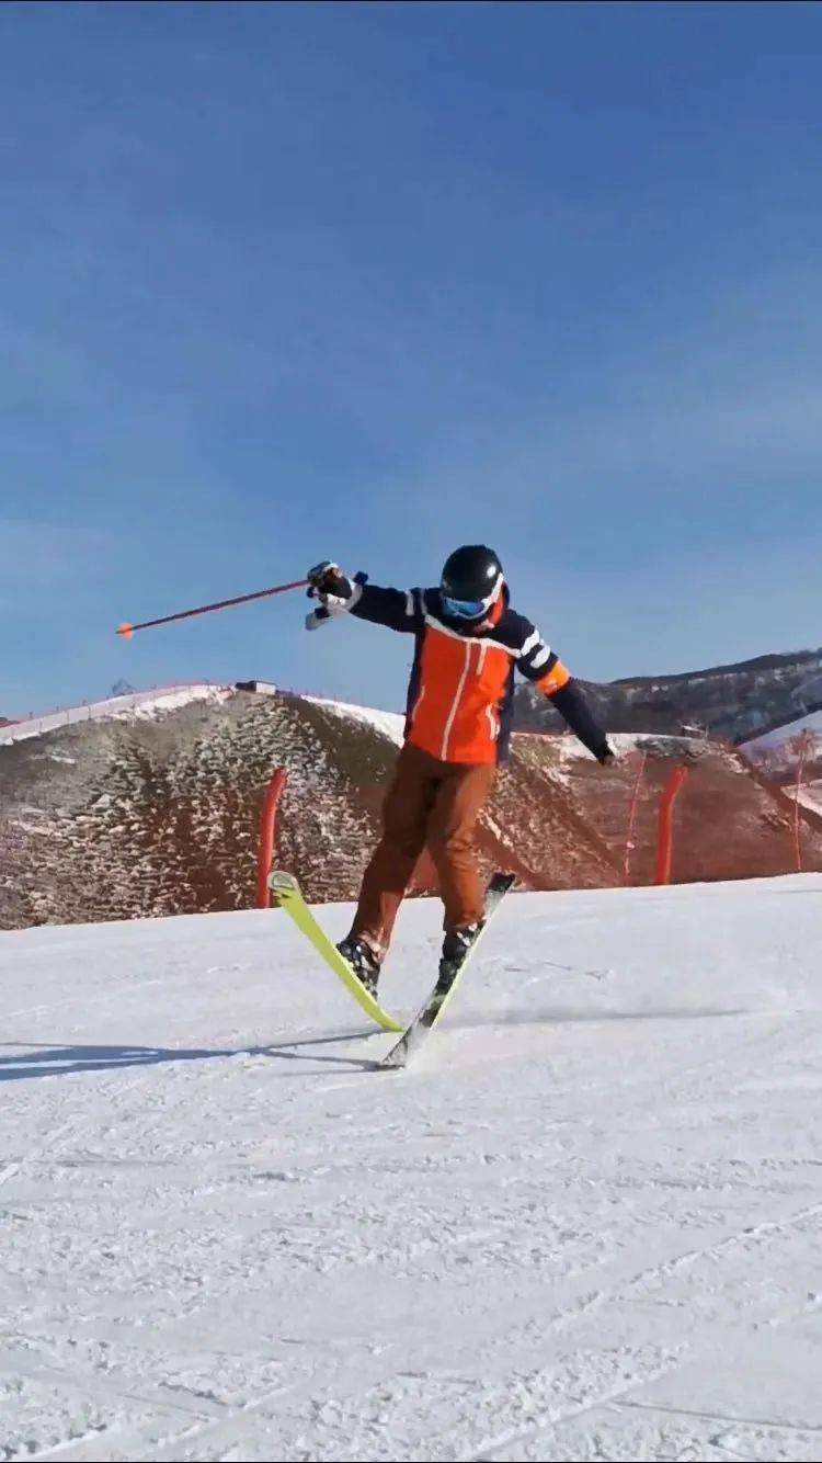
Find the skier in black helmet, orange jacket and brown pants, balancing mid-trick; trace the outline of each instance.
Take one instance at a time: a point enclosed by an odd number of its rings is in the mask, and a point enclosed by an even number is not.
[[[513,672],[551,698],[598,762],[611,762],[613,752],[570,673],[510,609],[502,563],[484,544],[456,549],[433,590],[379,588],[331,560],[310,569],[307,581],[309,597],[322,606],[309,614],[309,628],[350,613],[415,636],[405,743],[339,952],[376,996],[399,906],[427,844],[445,903],[439,979],[448,983],[483,922],[474,830],[508,752]]]

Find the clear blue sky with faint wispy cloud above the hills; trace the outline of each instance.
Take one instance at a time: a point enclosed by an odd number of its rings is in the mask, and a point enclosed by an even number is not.
[[[822,7],[0,6],[0,711],[399,704],[458,543],[588,677],[822,642]]]

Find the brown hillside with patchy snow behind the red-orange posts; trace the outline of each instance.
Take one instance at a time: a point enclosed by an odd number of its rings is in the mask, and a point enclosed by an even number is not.
[[[733,752],[645,739],[652,756],[632,879],[652,869],[658,790],[692,761],[677,806],[674,878],[781,873],[790,815]],[[622,882],[633,746],[597,767],[569,737],[515,737],[480,832],[483,863],[529,888]],[[0,745],[0,928],[247,909],[257,821],[275,767],[287,771],[278,862],[312,900],[352,898],[379,830],[396,746],[335,704],[224,691],[152,715],[117,715]],[[804,824],[806,868],[822,832]],[[418,887],[433,888],[426,862]]]

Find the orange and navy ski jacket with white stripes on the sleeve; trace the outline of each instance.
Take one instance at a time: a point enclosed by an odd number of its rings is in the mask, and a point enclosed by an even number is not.
[[[570,672],[531,620],[510,609],[508,585],[480,625],[448,616],[439,590],[357,584],[351,614],[415,636],[405,739],[442,762],[505,761],[518,670],[550,696],[597,758],[608,753]]]

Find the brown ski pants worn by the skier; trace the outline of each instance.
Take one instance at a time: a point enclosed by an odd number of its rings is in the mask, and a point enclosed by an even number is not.
[[[352,933],[377,958],[391,944],[393,923],[423,849],[434,860],[446,930],[483,917],[484,890],[474,863],[474,830],[489,797],[496,767],[440,762],[405,743],[383,805],[383,835],[366,869]]]

